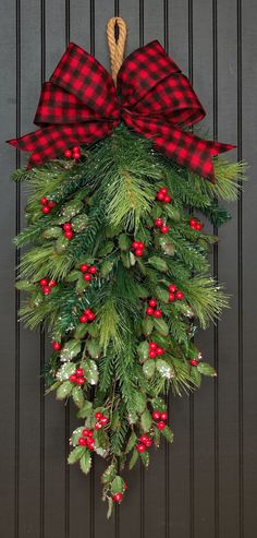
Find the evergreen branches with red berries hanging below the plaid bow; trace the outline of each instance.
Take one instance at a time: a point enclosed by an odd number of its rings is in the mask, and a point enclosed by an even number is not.
[[[244,166],[217,158],[212,184],[124,124],[81,151],[14,176],[32,190],[28,227],[15,239],[32,246],[17,288],[28,294],[26,325],[51,333],[48,392],[78,409],[69,463],[87,474],[93,452],[106,458],[110,515],[125,465],[147,467],[148,447],[160,435],[172,442],[169,390],[181,395],[216,375],[193,337],[228,299],[209,274],[217,237],[192,212],[224,223],[218,200],[236,199]]]

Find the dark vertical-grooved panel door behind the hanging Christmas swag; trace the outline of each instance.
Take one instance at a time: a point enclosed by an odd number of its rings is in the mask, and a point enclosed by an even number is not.
[[[254,0],[2,0],[1,139],[33,129],[42,80],[71,39],[109,65],[106,23],[122,15],[127,52],[158,38],[191,76],[208,110],[205,127],[250,164],[252,180],[220,230],[213,273],[231,310],[201,347],[217,369],[189,398],[170,402],[175,442],[134,470],[130,493],[106,521],[98,485],[65,463],[74,410],[44,397],[40,368],[49,344],[17,322],[20,297],[11,243],[24,224],[26,192],[9,180],[23,156],[3,145],[1,164],[2,538],[254,538],[257,536],[256,85]],[[232,155],[232,154],[231,154]]]

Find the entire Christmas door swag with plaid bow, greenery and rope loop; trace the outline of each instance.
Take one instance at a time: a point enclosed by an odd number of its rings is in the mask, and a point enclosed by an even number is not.
[[[205,111],[158,41],[122,67],[121,19],[109,21],[108,41],[112,77],[71,44],[42,86],[39,129],[9,142],[32,154],[14,175],[30,191],[15,240],[32,246],[21,316],[51,333],[47,392],[71,398],[79,419],[69,463],[87,474],[94,453],[106,459],[110,515],[127,488],[124,467],[147,467],[160,438],[172,442],[168,392],[216,375],[194,335],[228,300],[210,276],[217,237],[199,212],[215,227],[228,220],[218,201],[236,199],[243,165],[213,160],[233,146],[188,129]]]

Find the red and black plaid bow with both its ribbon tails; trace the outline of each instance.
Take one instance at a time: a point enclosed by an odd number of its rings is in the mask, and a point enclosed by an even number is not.
[[[102,139],[124,121],[152,139],[155,147],[168,157],[215,181],[212,155],[234,146],[183,130],[204,117],[189,81],[157,40],[125,59],[117,88],[107,70],[71,43],[50,82],[42,85],[34,120],[40,129],[9,143],[32,152],[30,168],[75,144]]]

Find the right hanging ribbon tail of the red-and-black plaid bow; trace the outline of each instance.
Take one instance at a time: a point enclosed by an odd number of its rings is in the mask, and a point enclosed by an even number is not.
[[[125,115],[124,120],[136,132],[151,139],[154,146],[160,153],[212,183],[216,182],[212,156],[235,147],[231,144],[200,139],[156,118]]]

